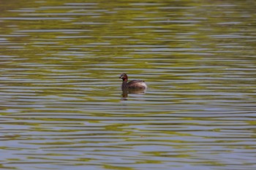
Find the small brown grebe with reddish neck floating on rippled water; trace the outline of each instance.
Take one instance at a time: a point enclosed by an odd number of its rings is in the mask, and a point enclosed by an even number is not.
[[[119,79],[123,80],[123,83],[121,85],[122,90],[148,88],[148,86],[146,85],[146,83],[143,80],[132,80],[130,82],[127,82],[128,76],[125,73],[121,74]]]

